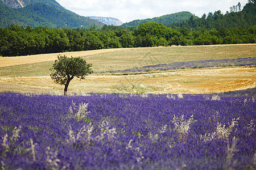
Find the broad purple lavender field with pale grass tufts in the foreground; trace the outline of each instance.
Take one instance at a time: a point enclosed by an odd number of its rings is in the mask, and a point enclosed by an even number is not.
[[[0,93],[2,169],[255,169],[255,97]]]

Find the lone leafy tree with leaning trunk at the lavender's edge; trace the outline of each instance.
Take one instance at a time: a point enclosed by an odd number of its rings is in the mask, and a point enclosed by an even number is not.
[[[85,76],[92,74],[90,69],[92,64],[87,64],[86,61],[80,57],[68,58],[67,56],[58,56],[58,59],[53,63],[51,78],[55,83],[65,85],[64,95],[67,94],[69,82],[76,76],[80,80],[85,79]]]

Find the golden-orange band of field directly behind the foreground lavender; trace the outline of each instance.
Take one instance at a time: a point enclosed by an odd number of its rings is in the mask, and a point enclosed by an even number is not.
[[[89,75],[72,80],[69,92],[124,92],[139,94],[209,94],[255,87],[256,68],[184,70],[144,75]],[[64,86],[49,76],[0,78],[0,92],[55,93]]]

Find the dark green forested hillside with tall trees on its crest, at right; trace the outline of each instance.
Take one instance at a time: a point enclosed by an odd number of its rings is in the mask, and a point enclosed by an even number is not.
[[[238,6],[238,5],[237,5]],[[174,23],[170,28],[180,31],[181,28],[187,31],[200,31],[201,28],[208,30],[221,28],[246,28],[256,24],[256,6],[255,1],[248,1],[248,3],[239,9],[236,6],[230,7],[232,10],[223,14],[220,10],[214,13],[209,12],[208,15],[203,15],[201,18],[191,17],[189,20]]]

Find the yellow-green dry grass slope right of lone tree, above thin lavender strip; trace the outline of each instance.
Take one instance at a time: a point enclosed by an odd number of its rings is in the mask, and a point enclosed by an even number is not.
[[[93,70],[125,70],[159,63],[187,62],[206,59],[245,58],[256,56],[256,44],[171,46],[132,48],[121,52],[84,57]]]

